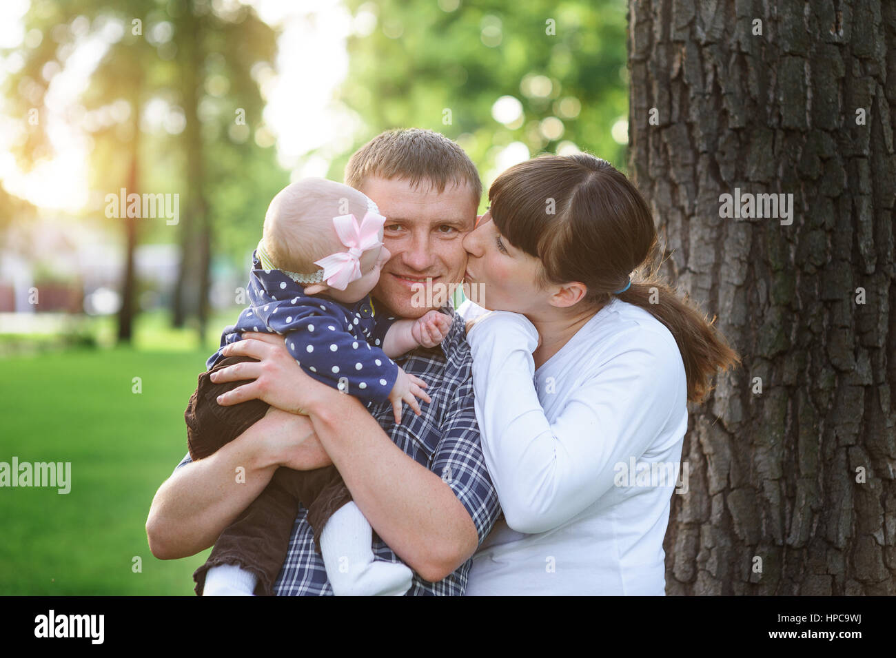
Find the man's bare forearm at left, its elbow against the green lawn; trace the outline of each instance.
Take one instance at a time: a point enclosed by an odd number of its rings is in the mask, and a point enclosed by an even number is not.
[[[152,554],[175,560],[207,549],[258,497],[280,463],[330,464],[320,444],[306,438],[314,438],[306,416],[271,408],[210,457],[178,468],[159,487],[146,519]],[[238,482],[239,467],[245,471]]]

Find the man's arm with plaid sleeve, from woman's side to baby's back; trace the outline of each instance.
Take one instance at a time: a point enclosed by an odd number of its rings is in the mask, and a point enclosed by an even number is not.
[[[471,390],[454,397],[462,408],[452,405],[446,414],[451,420],[442,428],[434,466],[459,472],[446,483],[392,443],[358,399],[308,377],[283,338],[249,334],[223,354],[258,361],[213,375],[216,383],[253,380],[221,395],[219,404],[263,399],[282,409],[305,409],[316,433],[309,443],[320,442],[370,525],[421,577],[442,580],[470,558],[499,511],[478,444]],[[279,463],[298,470],[315,467],[297,458]]]

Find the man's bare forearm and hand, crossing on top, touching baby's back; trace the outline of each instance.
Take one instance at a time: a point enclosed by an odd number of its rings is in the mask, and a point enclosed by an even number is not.
[[[305,409],[358,508],[383,542],[421,577],[441,580],[470,558],[478,546],[477,528],[441,477],[392,443],[355,397],[308,377],[282,338],[246,338],[225,347],[225,355],[252,356],[259,362],[225,368],[215,381],[254,381],[225,393],[220,404],[259,398],[280,408]]]

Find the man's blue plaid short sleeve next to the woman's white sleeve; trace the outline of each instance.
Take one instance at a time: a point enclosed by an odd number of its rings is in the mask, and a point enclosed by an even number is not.
[[[501,514],[497,492],[482,453],[472,382],[461,384],[445,410],[442,440],[431,470],[454,491],[476,526],[479,543]]]

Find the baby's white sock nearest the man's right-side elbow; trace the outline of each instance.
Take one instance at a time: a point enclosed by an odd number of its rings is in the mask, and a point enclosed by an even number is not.
[[[327,520],[321,553],[327,577],[337,596],[401,596],[414,573],[400,562],[376,560],[373,530],[358,505],[349,502]]]

